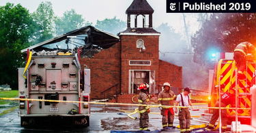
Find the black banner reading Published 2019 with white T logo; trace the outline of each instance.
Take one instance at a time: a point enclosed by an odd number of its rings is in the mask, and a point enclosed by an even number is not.
[[[254,8],[256,9],[256,8]],[[179,0],[167,0],[167,13],[174,12],[253,12],[253,5],[250,2],[182,2]]]

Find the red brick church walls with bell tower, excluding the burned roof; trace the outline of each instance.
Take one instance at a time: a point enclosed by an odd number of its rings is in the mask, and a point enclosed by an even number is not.
[[[182,88],[182,67],[159,60],[160,33],[153,29],[153,13],[146,0],[134,0],[126,10],[127,29],[119,33],[119,41],[92,58],[81,58],[91,69],[91,98],[117,96],[109,102],[130,103],[141,83],[150,84],[150,94],[158,94],[166,81],[176,93]]]

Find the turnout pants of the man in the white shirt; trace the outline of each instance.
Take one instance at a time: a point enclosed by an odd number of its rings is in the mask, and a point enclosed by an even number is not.
[[[180,108],[179,120],[180,132],[190,132],[190,112],[188,108]]]

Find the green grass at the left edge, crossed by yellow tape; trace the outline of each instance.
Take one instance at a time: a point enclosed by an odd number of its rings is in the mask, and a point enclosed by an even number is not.
[[[15,97],[18,97],[18,90],[10,90],[10,91],[3,91],[3,92],[0,92],[0,98],[15,98]],[[14,102],[17,102],[17,101],[13,101],[13,100],[1,100],[0,99],[0,104],[13,104]],[[11,107],[5,111],[3,111],[2,113],[0,113],[0,116],[1,115],[4,115],[4,114],[7,114],[7,113],[10,113],[10,112],[13,112],[14,109],[17,109],[18,106],[16,107]]]

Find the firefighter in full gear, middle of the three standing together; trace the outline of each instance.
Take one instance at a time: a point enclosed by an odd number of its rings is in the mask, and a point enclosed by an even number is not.
[[[171,85],[165,82],[163,85],[164,89],[158,94],[158,105],[162,115],[162,128],[175,128],[173,126],[174,111],[173,107],[161,107],[162,105],[173,106],[173,99],[175,94],[171,91]]]

